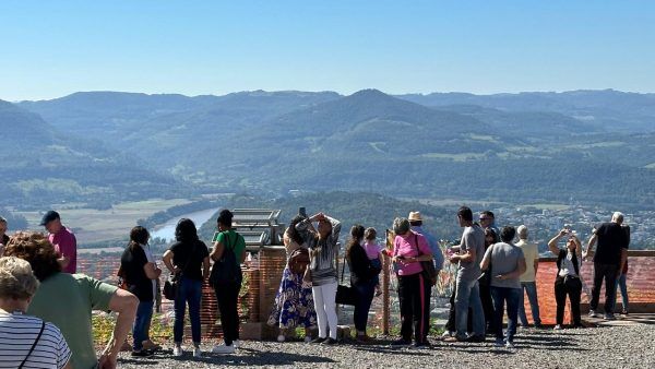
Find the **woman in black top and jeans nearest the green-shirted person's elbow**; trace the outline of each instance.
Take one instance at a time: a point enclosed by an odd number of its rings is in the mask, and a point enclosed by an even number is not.
[[[147,260],[145,245],[150,239],[147,229],[136,226],[130,231],[130,243],[120,258],[121,276],[128,290],[139,298],[136,319],[132,328],[134,338],[132,356],[150,356],[152,352],[143,349],[143,342],[147,338],[147,329],[153,318],[156,279],[162,270]]]

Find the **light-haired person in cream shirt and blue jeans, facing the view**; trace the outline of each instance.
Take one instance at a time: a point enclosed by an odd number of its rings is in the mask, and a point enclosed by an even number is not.
[[[541,319],[539,318],[539,300],[537,299],[537,284],[536,274],[539,267],[539,248],[536,243],[527,241],[527,227],[524,225],[519,226],[516,229],[519,235],[519,242],[515,245],[523,250],[525,257],[525,264],[527,269],[525,273],[521,275],[521,302],[519,305],[519,320],[521,326],[527,326],[527,317],[525,316],[525,294],[527,294],[527,300],[529,301],[529,310],[532,311],[533,322],[535,328],[541,328]]]

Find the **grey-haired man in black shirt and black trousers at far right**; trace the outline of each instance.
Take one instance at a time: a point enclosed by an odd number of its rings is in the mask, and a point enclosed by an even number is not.
[[[598,242],[598,249],[594,254],[594,287],[592,288],[592,301],[590,303],[591,318],[596,317],[600,287],[603,286],[603,279],[605,279],[605,319],[615,319],[617,277],[623,270],[628,259],[628,237],[621,228],[622,223],[623,214],[614,213],[610,223],[603,223],[594,230],[587,250],[583,254],[583,258],[586,258],[596,241]]]

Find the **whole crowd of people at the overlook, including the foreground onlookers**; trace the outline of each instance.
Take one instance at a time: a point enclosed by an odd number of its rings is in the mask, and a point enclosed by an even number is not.
[[[484,211],[474,219],[474,212],[466,206],[456,216],[463,228],[462,237],[458,245],[445,250],[422,229],[419,212],[394,219],[390,248],[378,242],[374,228],[354,225],[345,247],[349,286],[338,283],[341,222],[324,213],[295,216],[284,233],[287,263],[269,318],[269,324],[279,330],[277,341],[284,342],[296,328],[303,328],[307,343],[337,344],[336,305],[348,299],[354,306],[355,340],[369,342],[369,310],[373,297],[381,293],[379,275],[384,258],[393,265],[397,278],[401,336],[393,346],[430,346],[430,296],[434,273],[440,273],[446,258],[456,265],[456,278],[442,340],[485,342],[487,334],[491,334],[497,346],[514,347],[517,325],[528,325],[525,295],[534,326],[543,328],[536,288],[538,248],[529,241],[527,227],[499,229],[492,212]],[[604,318],[615,319],[618,286],[623,297],[622,313],[628,313],[626,273],[630,228],[622,223],[623,215],[615,213],[611,222],[595,229],[584,252],[576,234],[569,228],[548,242],[549,250],[557,255],[556,330],[563,328],[567,296],[572,326],[582,326],[580,271],[592,253],[594,284],[590,317],[597,316],[603,282]],[[76,274],[75,236],[61,223],[57,212],[47,212],[40,224],[47,235],[17,231],[9,237],[7,221],[0,217],[0,367],[115,368],[130,330],[132,356],[147,357],[160,349],[150,338],[162,267],[150,250],[148,230],[141,226],[131,229],[118,273],[121,283],[114,286]],[[217,237],[209,248],[200,240],[193,222],[180,219],[175,230],[176,242],[162,257],[164,267],[170,273],[164,294],[174,300],[174,356],[183,355],[187,307],[192,355],[202,356],[200,307],[204,281],[214,289],[224,336],[212,353],[233,354],[241,345],[237,305],[246,242],[233,228],[231,212],[222,211],[216,227]],[[562,240],[564,247],[560,248]],[[93,310],[117,314],[111,337],[99,358],[93,342]],[[508,326],[503,331],[505,313]],[[16,332],[21,332],[22,340],[2,340]]]

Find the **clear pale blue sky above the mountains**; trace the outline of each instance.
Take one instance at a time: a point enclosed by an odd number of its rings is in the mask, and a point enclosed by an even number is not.
[[[655,92],[653,1],[0,2],[0,99]]]

